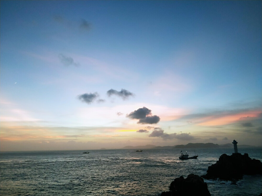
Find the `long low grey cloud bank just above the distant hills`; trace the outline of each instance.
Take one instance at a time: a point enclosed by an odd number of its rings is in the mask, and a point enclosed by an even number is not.
[[[179,140],[194,140],[195,139],[194,136],[191,136],[188,133],[168,134],[168,133],[165,133],[164,130],[160,128],[155,128],[154,131],[152,131],[152,133],[149,134],[149,137],[161,137],[163,140],[172,140],[174,138],[179,139]]]

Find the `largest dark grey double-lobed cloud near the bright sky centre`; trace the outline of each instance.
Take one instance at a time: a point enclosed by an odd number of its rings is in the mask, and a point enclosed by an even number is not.
[[[139,119],[138,124],[156,124],[160,121],[159,116],[152,116],[151,110],[146,107],[130,112],[126,117]]]

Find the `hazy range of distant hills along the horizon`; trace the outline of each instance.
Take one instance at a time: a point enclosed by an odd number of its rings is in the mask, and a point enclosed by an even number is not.
[[[238,148],[251,148],[256,146],[250,145],[237,145]],[[145,145],[145,146],[125,146],[122,149],[167,149],[167,148],[233,148],[232,143],[227,144],[214,144],[214,143],[188,143],[187,145],[175,145],[175,146],[155,146],[155,145]]]

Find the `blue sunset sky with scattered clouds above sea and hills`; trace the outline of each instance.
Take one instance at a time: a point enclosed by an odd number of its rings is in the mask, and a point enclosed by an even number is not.
[[[0,151],[262,145],[261,1],[1,1]]]

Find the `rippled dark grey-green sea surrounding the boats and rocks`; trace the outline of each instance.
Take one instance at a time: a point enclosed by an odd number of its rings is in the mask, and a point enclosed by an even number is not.
[[[179,160],[181,149],[38,151],[0,153],[0,195],[160,195],[179,176],[204,175],[232,148],[187,150],[198,159]],[[262,161],[262,148],[239,148]],[[237,185],[205,180],[211,195],[259,195],[262,176],[245,175]]]

